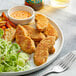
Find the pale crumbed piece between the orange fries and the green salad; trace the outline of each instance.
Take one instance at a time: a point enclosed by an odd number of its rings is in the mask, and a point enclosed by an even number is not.
[[[13,41],[15,38],[16,30],[14,28],[8,28],[4,30],[4,39],[7,41]]]

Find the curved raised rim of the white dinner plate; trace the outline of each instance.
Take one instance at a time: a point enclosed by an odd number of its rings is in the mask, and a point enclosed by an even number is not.
[[[4,9],[4,10],[0,10],[0,12],[1,11],[8,11],[8,9]],[[40,12],[37,12],[37,13],[39,13],[39,14],[42,14],[42,13],[40,13]],[[42,14],[42,15],[44,15],[44,14]],[[30,74],[30,73],[32,73],[32,72],[36,72],[36,71],[38,71],[38,70],[41,70],[41,69],[43,69],[43,68],[45,68],[46,66],[48,66],[50,63],[52,63],[55,59],[56,59],[56,57],[60,54],[60,52],[62,51],[62,47],[63,47],[63,44],[64,44],[64,36],[63,36],[63,32],[62,32],[62,30],[61,30],[61,28],[60,28],[60,26],[55,22],[55,21],[53,21],[49,16],[47,16],[47,15],[44,15],[44,16],[46,16],[50,21],[52,21],[53,22],[53,24],[55,24],[56,25],[56,27],[59,29],[59,31],[60,31],[60,33],[61,33],[61,38],[62,38],[62,41],[61,41],[61,46],[60,46],[60,49],[58,50],[58,52],[56,52],[56,54],[55,54],[55,56],[54,56],[54,58],[51,60],[51,61],[48,61],[48,63],[46,62],[46,63],[44,63],[43,65],[40,65],[40,66],[37,66],[37,67],[35,67],[35,68],[32,68],[32,69],[29,69],[29,70],[27,70],[27,71],[20,71],[20,72],[0,72],[0,75],[23,75],[23,74]]]

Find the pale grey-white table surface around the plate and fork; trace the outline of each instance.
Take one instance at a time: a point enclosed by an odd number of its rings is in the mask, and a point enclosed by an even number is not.
[[[44,14],[50,16],[51,19],[61,27],[64,34],[64,46],[58,57],[62,57],[66,53],[76,49],[76,0],[70,1],[67,8],[57,9],[55,11],[44,11]],[[0,0],[0,10],[9,9],[12,6],[22,4],[24,4],[24,0]],[[51,64],[40,71],[25,76],[41,76],[42,73],[47,72],[50,68]],[[69,70],[48,76],[76,76],[76,61]]]

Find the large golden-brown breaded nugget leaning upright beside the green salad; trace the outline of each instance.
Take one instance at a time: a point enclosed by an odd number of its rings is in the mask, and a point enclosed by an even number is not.
[[[28,36],[27,30],[21,25],[18,25],[16,29],[16,42],[26,53],[31,54],[35,50],[34,41]]]

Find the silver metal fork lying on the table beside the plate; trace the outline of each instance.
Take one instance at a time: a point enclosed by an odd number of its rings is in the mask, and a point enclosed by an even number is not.
[[[75,59],[76,59],[76,55],[73,54],[72,52],[69,53],[63,59],[60,59],[60,61],[58,60],[55,61],[56,65],[54,65],[48,73],[45,73],[42,76],[47,76],[48,74],[51,73],[60,73],[67,70],[75,61]]]

